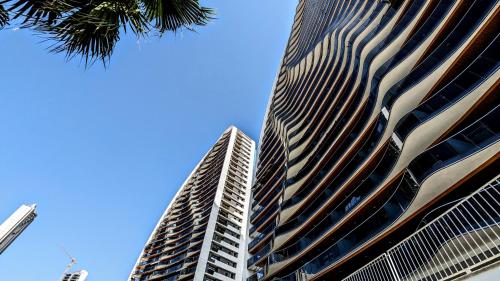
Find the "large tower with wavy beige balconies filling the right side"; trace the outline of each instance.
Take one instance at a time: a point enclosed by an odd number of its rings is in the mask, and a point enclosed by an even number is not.
[[[248,281],[448,280],[500,250],[498,0],[300,0]]]

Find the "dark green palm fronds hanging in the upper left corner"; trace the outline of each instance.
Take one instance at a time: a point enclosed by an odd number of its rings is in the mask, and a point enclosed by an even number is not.
[[[121,32],[192,30],[212,16],[199,0],[0,0],[0,28],[10,21],[33,29],[52,42],[51,51],[81,56],[86,65],[106,65]]]

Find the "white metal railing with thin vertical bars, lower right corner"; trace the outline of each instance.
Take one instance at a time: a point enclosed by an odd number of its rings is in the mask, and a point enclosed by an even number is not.
[[[344,281],[444,280],[500,258],[500,177]]]

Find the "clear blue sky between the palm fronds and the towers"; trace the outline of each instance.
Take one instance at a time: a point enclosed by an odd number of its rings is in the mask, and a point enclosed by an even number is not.
[[[0,256],[1,281],[126,280],[179,185],[231,124],[253,138],[297,1],[207,1],[197,33],[123,37],[109,69],[0,31],[0,221],[37,203]]]

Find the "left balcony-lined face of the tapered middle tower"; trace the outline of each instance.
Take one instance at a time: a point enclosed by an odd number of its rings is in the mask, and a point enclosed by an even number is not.
[[[145,247],[133,280],[183,280],[192,276],[228,143],[226,134],[183,187]]]

